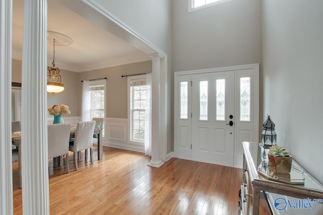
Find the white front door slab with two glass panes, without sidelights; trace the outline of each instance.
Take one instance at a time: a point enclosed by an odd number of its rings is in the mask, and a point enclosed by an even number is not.
[[[234,86],[234,70],[192,75],[192,160],[234,166]]]

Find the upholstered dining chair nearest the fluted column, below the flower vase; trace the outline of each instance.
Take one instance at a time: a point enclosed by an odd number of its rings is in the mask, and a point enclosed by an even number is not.
[[[65,155],[67,172],[70,172],[69,165],[69,141],[71,124],[47,125],[48,138],[48,159]]]

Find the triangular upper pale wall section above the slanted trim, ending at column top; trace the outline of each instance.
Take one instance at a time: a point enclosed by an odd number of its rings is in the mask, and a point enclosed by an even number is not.
[[[94,0],[171,58],[171,1]]]

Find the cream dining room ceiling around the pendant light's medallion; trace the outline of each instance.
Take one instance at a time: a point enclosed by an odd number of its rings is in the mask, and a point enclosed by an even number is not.
[[[13,58],[22,56],[23,0],[13,1]],[[93,24],[61,4],[47,1],[47,30],[69,36],[70,46],[55,46],[55,63],[59,68],[82,72],[149,60],[147,54]],[[47,64],[53,59],[53,44],[47,44]]]

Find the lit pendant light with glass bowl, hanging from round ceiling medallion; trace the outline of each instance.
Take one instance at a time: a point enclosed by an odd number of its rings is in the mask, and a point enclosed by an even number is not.
[[[47,67],[47,92],[54,95],[64,90],[64,80],[60,74],[60,69],[55,66],[55,45],[67,46],[73,43],[73,40],[61,33],[47,31],[47,43],[53,44],[52,66]]]

